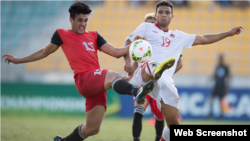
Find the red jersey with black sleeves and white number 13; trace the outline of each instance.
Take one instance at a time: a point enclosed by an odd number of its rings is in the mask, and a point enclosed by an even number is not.
[[[76,75],[79,72],[100,69],[97,49],[106,43],[96,31],[83,34],[71,30],[57,29],[51,43],[61,46],[70,67]]]

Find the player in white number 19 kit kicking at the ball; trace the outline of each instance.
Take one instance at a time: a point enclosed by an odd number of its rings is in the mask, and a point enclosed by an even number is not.
[[[152,74],[151,72],[158,72],[165,66],[156,67],[156,62],[162,63],[167,58],[178,60],[183,49],[192,48],[195,45],[211,44],[224,38],[238,35],[243,30],[243,27],[237,26],[227,32],[207,35],[190,35],[178,30],[171,31],[168,27],[174,18],[173,4],[166,0],[159,1],[156,4],[155,17],[155,24],[142,23],[127,37],[125,42],[125,44],[129,44],[136,35],[141,35],[147,38],[147,41],[153,48],[151,59],[154,61],[148,62],[144,66],[138,64],[139,67],[134,72],[134,78],[139,85],[143,85],[154,78],[159,78],[157,73]],[[128,59],[125,61],[129,63]],[[133,66],[136,65],[133,64]],[[176,63],[170,69],[165,70],[158,81],[156,81],[153,91],[149,93],[156,100],[157,106],[162,111],[167,122],[161,141],[170,140],[170,125],[179,125],[179,95],[172,79],[175,68]],[[129,69],[127,70],[129,72]],[[130,75],[132,73],[129,72]]]

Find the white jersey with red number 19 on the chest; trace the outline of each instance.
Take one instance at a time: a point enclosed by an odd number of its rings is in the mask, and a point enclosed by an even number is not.
[[[178,30],[169,30],[165,32],[159,28],[157,23],[142,23],[126,39],[133,42],[136,35],[147,37],[147,41],[151,44],[153,49],[151,56],[152,60],[162,63],[168,58],[175,58],[176,63],[174,66],[164,72],[164,74],[168,76],[174,74],[182,50],[185,48],[192,48],[192,44],[196,38],[196,35],[190,35]],[[139,66],[140,65],[141,64],[139,64]]]

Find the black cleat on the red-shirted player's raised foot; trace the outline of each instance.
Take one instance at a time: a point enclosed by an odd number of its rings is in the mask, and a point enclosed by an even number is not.
[[[154,85],[154,80],[151,80],[137,90],[135,99],[138,104],[143,104],[145,102],[145,96],[153,90]]]

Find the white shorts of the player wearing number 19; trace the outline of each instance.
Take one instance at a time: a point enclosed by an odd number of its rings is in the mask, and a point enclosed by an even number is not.
[[[134,78],[138,85],[144,85],[146,82],[142,80],[141,75],[142,67],[138,67],[135,70]],[[170,106],[179,109],[179,95],[175,87],[174,80],[168,76],[167,73],[163,73],[161,78],[155,83],[154,89],[148,94],[156,100],[157,107],[161,110],[161,100]]]

